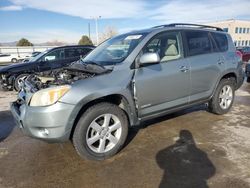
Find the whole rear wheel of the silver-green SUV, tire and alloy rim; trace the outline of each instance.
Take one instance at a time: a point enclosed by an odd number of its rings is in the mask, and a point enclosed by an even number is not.
[[[208,110],[218,115],[226,114],[234,102],[235,85],[236,81],[234,78],[222,79],[208,103]]]

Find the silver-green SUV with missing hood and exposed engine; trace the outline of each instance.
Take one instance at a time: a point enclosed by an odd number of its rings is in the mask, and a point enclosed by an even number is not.
[[[142,121],[201,103],[227,113],[243,83],[230,35],[195,24],[116,36],[50,75],[26,79],[13,116],[25,134],[72,140],[81,157],[95,160],[116,154]]]

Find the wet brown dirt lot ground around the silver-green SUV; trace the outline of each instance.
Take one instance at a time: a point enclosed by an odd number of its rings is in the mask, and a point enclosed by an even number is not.
[[[250,187],[250,84],[236,94],[227,115],[201,105],[146,122],[118,155],[95,162],[70,142],[24,136],[9,112],[15,93],[0,91],[0,187]]]

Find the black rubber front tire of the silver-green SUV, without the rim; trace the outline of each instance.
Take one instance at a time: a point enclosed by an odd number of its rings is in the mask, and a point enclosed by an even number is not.
[[[113,114],[119,118],[122,125],[121,138],[117,145],[106,153],[96,153],[92,151],[86,143],[86,134],[90,123],[96,119],[98,116],[103,114]],[[114,104],[110,103],[100,103],[90,107],[80,118],[77,123],[74,135],[73,135],[73,144],[78,152],[78,154],[87,159],[94,160],[104,160],[115,155],[122,148],[123,144],[126,141],[128,134],[128,119],[126,114],[121,108]]]

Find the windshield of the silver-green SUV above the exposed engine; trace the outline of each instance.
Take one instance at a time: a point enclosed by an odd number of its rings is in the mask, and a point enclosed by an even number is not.
[[[129,56],[145,35],[145,33],[124,34],[114,37],[94,49],[83,61],[86,63],[94,62],[102,66],[121,63]]]

